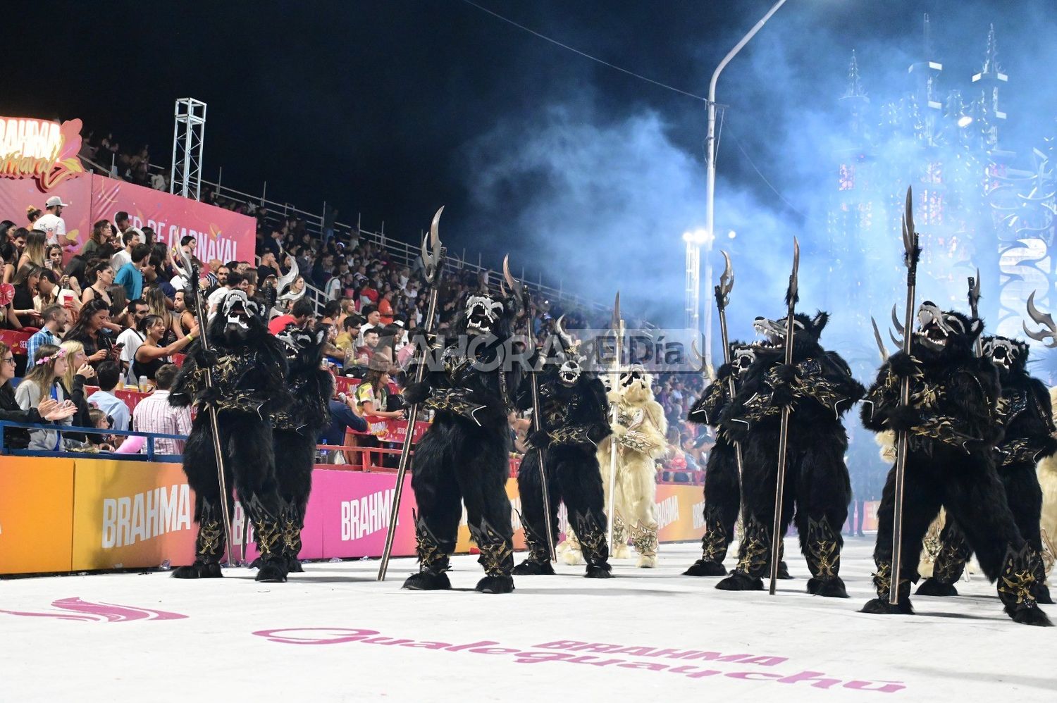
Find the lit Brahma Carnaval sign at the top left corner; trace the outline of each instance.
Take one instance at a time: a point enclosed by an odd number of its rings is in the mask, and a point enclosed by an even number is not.
[[[48,119],[0,117],[0,175],[37,179],[48,191],[61,181],[85,172],[80,151],[80,121],[61,125]]]

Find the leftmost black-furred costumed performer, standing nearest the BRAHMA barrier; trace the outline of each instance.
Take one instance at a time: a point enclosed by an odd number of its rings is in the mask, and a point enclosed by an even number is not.
[[[255,530],[261,568],[257,580],[284,581],[280,502],[277,492],[270,415],[286,408],[292,399],[286,387],[283,345],[268,334],[261,316],[263,306],[234,290],[209,321],[210,349],[196,339],[173,382],[169,404],[198,406],[184,448],[184,473],[194,491],[194,520],[199,523],[194,563],[180,567],[177,578],[215,578],[221,575],[224,524],[217,459],[208,406],[217,408],[224,480],[230,508],[234,489]],[[205,368],[212,372],[206,388]]]

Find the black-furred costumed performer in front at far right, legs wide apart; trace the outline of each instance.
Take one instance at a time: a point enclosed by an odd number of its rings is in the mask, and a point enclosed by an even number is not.
[[[995,445],[1002,434],[995,418],[1001,392],[998,372],[988,359],[972,354],[983,322],[943,312],[929,301],[922,303],[917,318],[916,331],[906,331],[913,335],[911,356],[898,352],[882,366],[863,407],[867,429],[909,434],[901,573],[892,574],[893,467],[877,511],[877,597],[863,612],[913,612],[910,582],[917,579],[922,538],[944,505],[948,520],[964,530],[984,573],[991,581],[998,579],[1006,613],[1018,623],[1050,625],[1032,594],[1038,557],[1017,530],[996,469]],[[910,377],[909,406],[900,403],[905,377]],[[896,606],[888,603],[893,578]]]

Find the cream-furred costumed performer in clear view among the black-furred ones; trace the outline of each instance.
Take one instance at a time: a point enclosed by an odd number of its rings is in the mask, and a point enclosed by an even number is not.
[[[642,367],[620,374],[618,389],[610,391],[616,404],[613,437],[598,445],[606,505],[609,505],[610,444],[617,442],[616,494],[613,506],[613,558],[628,557],[628,537],[638,552],[638,565],[656,566],[657,522],[653,517],[656,499],[656,463],[668,447],[668,423],[661,404],[653,400],[652,378]]]

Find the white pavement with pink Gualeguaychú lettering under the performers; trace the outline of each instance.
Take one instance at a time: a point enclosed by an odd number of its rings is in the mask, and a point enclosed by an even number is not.
[[[794,540],[797,578],[774,597],[681,576],[696,544],[662,545],[655,570],[617,561],[610,580],[517,577],[509,595],[472,592],[468,556],[440,593],[400,589],[411,559],[382,584],[376,560],[276,585],[245,569],[3,580],[0,700],[1057,700],[1057,628],[1013,623],[982,577],[915,597],[915,616],[857,613],[872,547],[846,548],[847,600],[803,592]]]

